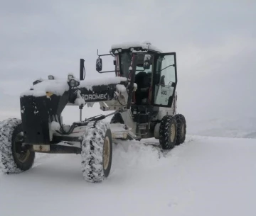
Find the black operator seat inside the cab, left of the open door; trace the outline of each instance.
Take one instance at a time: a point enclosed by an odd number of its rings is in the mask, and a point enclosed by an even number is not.
[[[149,75],[146,72],[139,72],[135,76],[134,82],[137,84],[137,91],[135,91],[136,105],[142,105],[143,99],[147,99],[149,96]]]

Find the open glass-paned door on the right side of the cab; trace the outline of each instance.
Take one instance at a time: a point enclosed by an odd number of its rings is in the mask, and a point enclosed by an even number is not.
[[[153,95],[154,106],[170,107],[174,101],[177,84],[176,53],[156,55],[154,61]]]

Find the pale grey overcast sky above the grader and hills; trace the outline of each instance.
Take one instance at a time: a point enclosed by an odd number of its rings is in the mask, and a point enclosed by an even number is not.
[[[0,119],[19,115],[19,94],[38,77],[78,75],[80,58],[86,79],[99,77],[97,48],[145,40],[176,52],[188,120],[256,116],[255,2],[2,0]]]

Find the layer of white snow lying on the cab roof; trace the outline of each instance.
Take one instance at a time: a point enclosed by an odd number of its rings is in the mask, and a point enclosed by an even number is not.
[[[120,44],[115,44],[111,46],[112,50],[116,50],[116,49],[129,49],[129,48],[133,48],[133,47],[142,47],[142,49],[149,49],[149,50],[154,50],[156,52],[162,52],[162,50],[160,50],[157,47],[154,47],[153,45],[151,45],[151,42],[145,41],[145,42],[124,42],[124,43],[120,43]]]

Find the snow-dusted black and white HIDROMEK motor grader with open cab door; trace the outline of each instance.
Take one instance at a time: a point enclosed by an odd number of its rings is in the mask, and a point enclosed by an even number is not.
[[[169,150],[186,139],[186,120],[176,112],[176,52],[163,53],[151,43],[112,45],[99,55],[96,71],[114,72],[108,79],[49,75],[20,96],[21,119],[0,122],[0,168],[6,174],[31,169],[35,152],[81,154],[85,181],[101,182],[110,174],[113,139],[159,139]],[[102,71],[102,58],[113,57],[114,69]],[[82,108],[100,103],[107,115],[82,119]],[[63,123],[65,106],[78,106],[80,120]],[[112,115],[110,123],[104,119]]]

